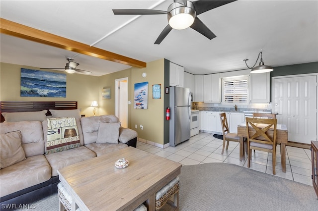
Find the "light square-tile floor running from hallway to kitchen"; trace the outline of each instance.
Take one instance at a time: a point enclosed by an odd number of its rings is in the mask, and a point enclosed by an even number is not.
[[[177,145],[176,147],[159,148],[143,142],[137,142],[137,148],[163,158],[179,162],[182,165],[195,165],[208,162],[225,162],[247,168],[245,160],[239,161],[239,143],[230,142],[228,151],[222,155],[223,140],[213,137],[210,133],[199,133]],[[282,172],[280,145],[277,145],[276,175],[292,181],[313,185],[311,151],[296,147],[286,147],[286,173]],[[252,152],[250,169],[272,174],[271,153]]]

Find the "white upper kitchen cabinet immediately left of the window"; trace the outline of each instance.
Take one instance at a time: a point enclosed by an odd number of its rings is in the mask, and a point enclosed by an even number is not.
[[[204,75],[205,103],[221,103],[221,85],[219,73]]]

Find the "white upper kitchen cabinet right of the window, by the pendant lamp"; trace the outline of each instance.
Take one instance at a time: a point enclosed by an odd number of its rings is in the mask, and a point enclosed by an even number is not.
[[[250,74],[250,102],[269,103],[270,72]]]

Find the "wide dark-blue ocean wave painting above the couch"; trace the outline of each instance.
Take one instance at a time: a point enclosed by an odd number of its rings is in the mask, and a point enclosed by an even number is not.
[[[66,74],[21,68],[20,96],[66,98]]]

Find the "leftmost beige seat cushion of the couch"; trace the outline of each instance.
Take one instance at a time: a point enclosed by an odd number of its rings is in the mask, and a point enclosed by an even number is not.
[[[51,167],[43,155],[28,157],[0,170],[0,195],[6,196],[51,178]]]

